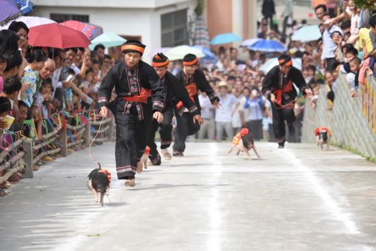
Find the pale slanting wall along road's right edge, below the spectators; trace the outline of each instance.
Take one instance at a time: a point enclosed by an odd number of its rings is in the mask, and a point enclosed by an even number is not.
[[[329,127],[331,143],[353,150],[368,159],[376,159],[376,81],[367,77],[360,84],[358,97],[351,98],[346,76],[339,75],[334,92],[334,105],[330,109],[327,88],[321,86],[317,106],[309,104],[304,110],[301,142],[316,142],[314,129]]]

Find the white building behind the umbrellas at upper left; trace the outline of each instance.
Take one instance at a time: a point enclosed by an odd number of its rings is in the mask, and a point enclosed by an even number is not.
[[[188,23],[197,0],[33,0],[33,16],[58,23],[92,23],[146,44],[146,57],[161,47],[189,44]]]

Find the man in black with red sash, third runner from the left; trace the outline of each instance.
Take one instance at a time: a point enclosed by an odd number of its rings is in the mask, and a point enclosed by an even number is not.
[[[219,98],[215,94],[213,88],[206,80],[202,70],[198,70],[198,57],[193,54],[187,54],[183,58],[183,70],[180,70],[176,78],[187,89],[189,96],[196,104],[199,111],[201,111],[200,102],[198,101],[197,91],[206,92],[211,103],[218,108]],[[183,103],[178,103],[174,109],[177,127],[175,131],[175,143],[172,148],[174,152],[172,155],[182,157],[185,150],[185,140],[187,135],[193,135],[200,130],[200,124],[194,123],[192,114],[184,107]]]

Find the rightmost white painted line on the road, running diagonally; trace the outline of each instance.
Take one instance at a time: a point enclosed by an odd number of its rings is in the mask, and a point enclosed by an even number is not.
[[[312,172],[310,168],[305,166],[301,162],[301,159],[297,159],[292,150],[284,149],[283,158],[286,160],[287,163],[291,163],[299,170],[304,170],[304,176],[306,177],[307,181],[309,181],[312,185],[312,189],[314,189],[316,194],[321,198],[321,200],[323,200],[327,211],[329,211],[334,216],[334,218],[338,220],[338,222],[342,222],[345,225],[349,234],[360,234],[360,231],[355,225],[355,222],[351,220],[349,213],[344,212],[344,210],[339,206],[336,200],[332,196],[330,196],[329,192],[327,191],[327,189],[325,189],[325,186],[322,185],[321,181],[319,181],[317,175],[314,174],[314,172]]]

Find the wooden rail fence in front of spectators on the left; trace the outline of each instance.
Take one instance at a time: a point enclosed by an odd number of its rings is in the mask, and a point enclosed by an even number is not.
[[[77,150],[94,142],[112,141],[115,123],[113,116],[101,120],[96,110],[83,110],[68,113],[61,111],[43,121],[43,135],[38,137],[33,120],[24,122],[23,131],[3,131],[0,144],[0,184],[8,181],[15,173],[21,178],[33,177],[33,166],[40,165],[46,156],[66,157],[70,148]]]

